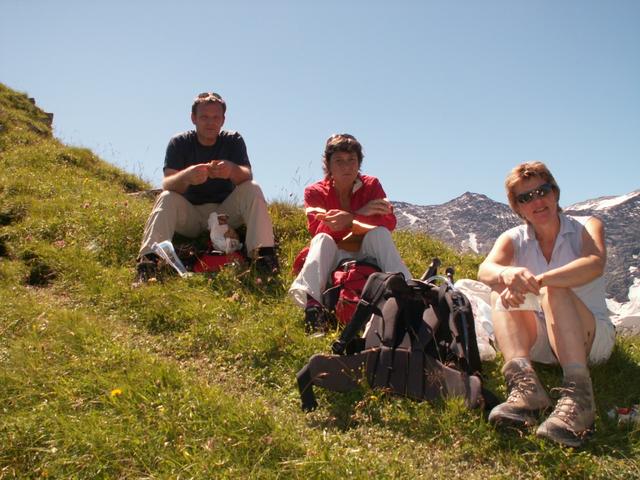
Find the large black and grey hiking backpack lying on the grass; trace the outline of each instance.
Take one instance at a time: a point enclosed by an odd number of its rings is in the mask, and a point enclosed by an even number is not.
[[[363,377],[373,388],[415,400],[461,396],[469,408],[497,403],[482,388],[469,301],[451,282],[437,286],[406,281],[400,273],[372,274],[332,350],[311,357],[297,374],[305,411],[317,407],[313,385],[346,392]]]

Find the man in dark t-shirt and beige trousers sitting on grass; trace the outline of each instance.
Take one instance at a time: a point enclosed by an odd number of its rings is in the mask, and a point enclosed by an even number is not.
[[[155,242],[174,233],[197,237],[213,212],[228,216],[231,228],[246,225],[249,257],[263,273],[277,271],[273,227],[261,188],[253,182],[247,147],[237,132],[222,130],[227,105],[216,93],[201,93],[191,107],[195,130],[171,138],[164,160],[163,192],[147,220],[138,280],[155,274]]]

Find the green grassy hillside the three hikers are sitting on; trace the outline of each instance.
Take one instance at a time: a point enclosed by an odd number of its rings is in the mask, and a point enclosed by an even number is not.
[[[496,432],[458,400],[366,387],[319,390],[304,414],[294,375],[331,338],[307,337],[285,298],[303,214],[270,206],[277,286],[229,269],[132,288],[151,201],[127,193],[143,188],[52,138],[0,84],[0,478],[640,478],[640,427],[606,415],[640,401],[640,340],[594,369],[597,433],[581,451]],[[475,276],[479,257],[395,235],[415,275],[439,256]]]

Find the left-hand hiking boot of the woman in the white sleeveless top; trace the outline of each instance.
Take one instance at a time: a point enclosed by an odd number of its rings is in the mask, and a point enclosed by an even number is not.
[[[513,359],[502,367],[507,381],[507,401],[494,407],[489,422],[496,425],[530,427],[537,423],[541,411],[551,406],[551,399],[528,360]]]

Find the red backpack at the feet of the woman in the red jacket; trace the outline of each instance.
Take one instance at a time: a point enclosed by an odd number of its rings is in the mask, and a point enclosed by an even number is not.
[[[331,287],[322,293],[322,304],[332,312],[340,325],[349,323],[360,301],[362,289],[376,264],[362,260],[345,260],[331,274]]]

